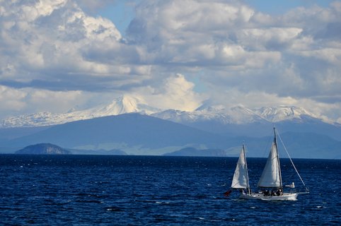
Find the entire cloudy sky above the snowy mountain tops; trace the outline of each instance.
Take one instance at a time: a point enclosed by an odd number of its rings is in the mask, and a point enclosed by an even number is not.
[[[132,95],[341,123],[341,1],[0,0],[0,119]]]

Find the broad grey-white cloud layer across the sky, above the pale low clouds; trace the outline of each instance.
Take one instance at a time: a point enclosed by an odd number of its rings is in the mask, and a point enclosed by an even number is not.
[[[237,90],[320,102],[340,97],[336,4],[276,17],[242,1],[141,1],[121,37],[109,20],[84,13],[84,7],[112,2],[59,3],[40,16],[28,13],[28,22],[18,15],[28,1],[4,4],[0,84],[101,92],[157,87],[182,73],[199,77],[209,94]]]

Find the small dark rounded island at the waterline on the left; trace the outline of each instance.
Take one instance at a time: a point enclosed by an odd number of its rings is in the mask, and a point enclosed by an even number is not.
[[[21,150],[17,150],[16,154],[21,155],[69,155],[71,152],[52,143],[37,143],[29,145]]]

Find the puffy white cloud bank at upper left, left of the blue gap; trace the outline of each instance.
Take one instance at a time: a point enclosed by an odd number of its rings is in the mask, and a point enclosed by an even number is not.
[[[110,20],[87,16],[79,6],[65,0],[14,1],[2,8],[0,83],[51,90],[105,88],[100,81],[108,83],[109,88],[138,83],[135,73],[141,66],[125,62],[128,60],[122,56],[129,47],[122,44],[122,36]],[[123,60],[116,57],[105,61],[101,59],[103,51],[114,52]],[[96,55],[100,57],[94,59]],[[135,81],[128,78],[121,82],[127,75],[135,76]],[[96,79],[99,83],[93,87]]]

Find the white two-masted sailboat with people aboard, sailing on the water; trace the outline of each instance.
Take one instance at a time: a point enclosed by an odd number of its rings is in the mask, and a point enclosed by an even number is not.
[[[286,150],[284,148],[284,150]],[[287,151],[287,150],[286,150]],[[289,160],[291,161],[291,165],[294,167],[296,174],[299,175],[296,167],[294,166],[294,162],[292,162],[289,153],[287,152]],[[303,179],[299,175],[301,182],[304,184]],[[288,187],[293,188],[294,182],[292,184],[287,185]],[[286,187],[287,187],[286,186]],[[269,157],[267,157],[267,162],[260,176],[260,180],[258,182],[258,188],[260,191],[252,192],[250,189],[249,179],[248,179],[248,165],[246,163],[245,157],[245,145],[243,144],[243,148],[241,150],[241,154],[239,155],[238,163],[236,166],[236,170],[233,174],[232,189],[238,189],[241,191],[241,198],[245,199],[260,199],[265,201],[295,201],[297,200],[297,196],[299,194],[307,194],[309,191],[306,188],[306,184],[304,184],[306,189],[305,192],[284,192],[283,184],[282,184],[282,172],[281,165],[279,164],[279,155],[277,150],[277,135],[276,130],[274,129],[274,141],[272,142],[272,146],[270,148]]]

